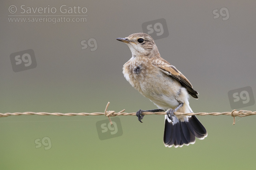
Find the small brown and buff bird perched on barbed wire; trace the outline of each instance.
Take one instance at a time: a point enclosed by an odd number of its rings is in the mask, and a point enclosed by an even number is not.
[[[136,113],[140,122],[143,112],[166,112],[163,143],[166,147],[194,144],[196,137],[204,139],[207,131],[195,115],[175,115],[174,112],[193,113],[189,95],[198,99],[198,92],[175,66],[164,60],[153,38],[146,33],[116,38],[131,50],[132,57],[123,66],[126,80],[158,109]]]

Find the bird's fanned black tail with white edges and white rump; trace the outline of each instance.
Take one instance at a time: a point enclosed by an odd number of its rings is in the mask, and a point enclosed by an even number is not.
[[[183,113],[193,113],[189,105],[184,105],[183,110]],[[175,116],[172,122],[165,115],[163,143],[166,147],[174,146],[177,148],[190,143],[194,144],[196,137],[198,139],[207,137],[206,129],[196,116]]]

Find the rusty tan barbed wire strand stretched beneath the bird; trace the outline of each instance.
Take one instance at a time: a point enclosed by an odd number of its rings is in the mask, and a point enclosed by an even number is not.
[[[7,116],[19,116],[19,115],[53,115],[53,116],[99,116],[99,115],[105,115],[109,118],[109,121],[112,125],[112,121],[110,117],[114,116],[136,116],[136,113],[125,113],[125,109],[122,111],[116,113],[115,111],[107,111],[109,107],[110,102],[106,105],[105,112],[104,113],[46,113],[46,112],[24,112],[24,113],[0,113],[0,117],[7,117]],[[143,112],[142,115],[166,115],[166,112]],[[256,112],[252,111],[245,111],[245,110],[240,110],[237,111],[237,109],[234,109],[232,112],[213,112],[213,113],[180,113],[180,112],[174,112],[174,115],[185,115],[185,116],[193,116],[193,115],[198,115],[198,116],[207,116],[207,115],[212,115],[212,116],[218,116],[218,115],[229,115],[233,117],[233,125],[236,123],[236,116],[238,117],[245,117],[245,116],[251,116],[251,115],[256,115]]]

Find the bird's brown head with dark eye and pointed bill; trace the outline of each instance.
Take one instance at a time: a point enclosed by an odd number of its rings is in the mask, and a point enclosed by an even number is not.
[[[156,47],[153,38],[145,33],[131,34],[126,38],[116,38],[118,41],[122,41],[128,45],[131,50],[132,56],[154,56],[158,55],[158,49]]]

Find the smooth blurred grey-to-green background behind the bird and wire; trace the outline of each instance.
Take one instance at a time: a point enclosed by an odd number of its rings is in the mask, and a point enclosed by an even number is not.
[[[142,32],[142,23],[165,18],[159,52],[199,91],[196,112],[231,112],[228,91],[251,86],[256,94],[255,1],[8,1],[0,7],[0,113],[93,113],[156,106],[125,80],[131,57],[118,37]],[[10,5],[85,6],[87,22],[9,22]],[[230,18],[213,19],[227,7]],[[19,11],[20,12],[20,11]],[[38,14],[38,13],[36,13]],[[55,15],[63,15],[56,13]],[[20,15],[20,13],[19,13]],[[25,14],[24,14],[25,15]],[[71,14],[74,15],[74,14]],[[98,49],[82,50],[95,38]],[[37,67],[14,72],[10,54],[33,49]],[[255,105],[242,108],[256,111]],[[254,169],[256,116],[198,116],[204,140],[182,148],[163,145],[164,116],[119,116],[123,135],[100,140],[104,116],[9,116],[0,118],[0,169]],[[35,148],[48,136],[52,148]]]

